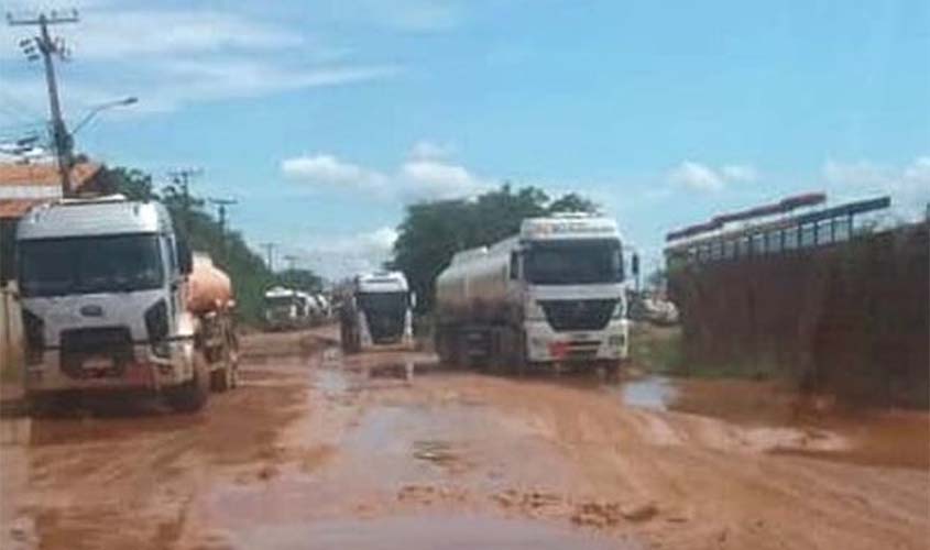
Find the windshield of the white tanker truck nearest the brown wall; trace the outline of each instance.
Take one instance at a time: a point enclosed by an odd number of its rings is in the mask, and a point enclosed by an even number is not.
[[[534,285],[586,285],[623,280],[617,241],[554,241],[534,243],[524,262]]]

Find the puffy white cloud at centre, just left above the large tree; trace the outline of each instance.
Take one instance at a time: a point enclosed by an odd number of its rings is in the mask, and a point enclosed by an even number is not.
[[[338,186],[348,191],[375,190],[380,198],[391,197],[404,202],[469,197],[491,186],[464,166],[439,158],[440,153],[445,155],[447,151],[419,142],[408,160],[390,175],[325,153],[287,158],[281,163],[281,170],[295,182]]]

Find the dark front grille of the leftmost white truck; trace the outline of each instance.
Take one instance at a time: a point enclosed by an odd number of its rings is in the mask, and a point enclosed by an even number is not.
[[[132,337],[127,327],[72,329],[62,331],[62,371],[75,378],[99,375],[84,369],[91,358],[112,361],[107,375],[120,376],[133,361]]]

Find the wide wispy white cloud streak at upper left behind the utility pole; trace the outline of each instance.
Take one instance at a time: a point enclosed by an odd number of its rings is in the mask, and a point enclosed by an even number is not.
[[[102,6],[83,12],[79,25],[55,31],[74,48],[75,63],[61,69],[68,112],[127,95],[140,102],[125,112],[168,111],[192,102],[382,79],[400,70],[352,63],[351,50],[233,11]],[[15,44],[33,32],[0,25],[0,43]],[[26,64],[18,48],[3,47],[0,72],[4,92],[44,111],[40,66]],[[8,122],[3,117],[0,123]]]

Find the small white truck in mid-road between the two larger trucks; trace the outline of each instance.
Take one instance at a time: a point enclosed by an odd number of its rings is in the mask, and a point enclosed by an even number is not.
[[[401,272],[358,275],[340,307],[342,350],[413,343],[414,296]]]

